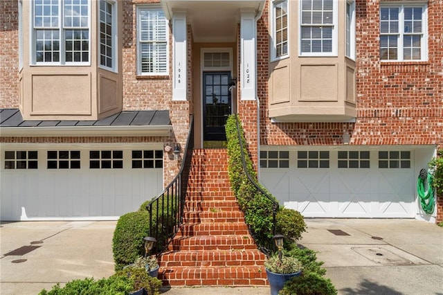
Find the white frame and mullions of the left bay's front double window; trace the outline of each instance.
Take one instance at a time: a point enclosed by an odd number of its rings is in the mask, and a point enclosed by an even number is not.
[[[87,0],[88,4],[88,24],[87,27],[64,27],[64,0],[57,0],[58,5],[58,21],[57,26],[48,28],[48,30],[58,30],[59,31],[59,51],[60,57],[58,62],[37,62],[37,30],[45,30],[45,27],[36,27],[35,26],[35,3],[31,1],[31,13],[30,13],[30,44],[32,44],[32,48],[30,50],[30,61],[32,65],[35,66],[90,66],[91,65],[91,0]],[[88,30],[88,61],[87,62],[66,62],[66,39],[64,35],[65,30]]]

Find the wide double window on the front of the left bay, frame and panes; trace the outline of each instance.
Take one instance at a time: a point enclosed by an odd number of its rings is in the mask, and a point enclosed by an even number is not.
[[[89,64],[88,0],[33,1],[33,63]]]

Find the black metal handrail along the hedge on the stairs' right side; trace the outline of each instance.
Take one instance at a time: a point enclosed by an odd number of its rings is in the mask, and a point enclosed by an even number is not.
[[[253,186],[255,186],[255,188],[257,188],[257,190],[259,190],[260,193],[262,195],[264,195],[264,197],[269,199],[269,201],[271,201],[271,203],[273,204],[273,235],[275,235],[276,215],[277,215],[277,211],[279,209],[279,204],[277,201],[275,201],[275,199],[273,197],[271,197],[271,195],[269,195],[268,192],[266,192],[266,190],[264,190],[262,188],[262,186],[260,186],[260,184],[257,184],[257,181],[255,181],[255,179],[249,174],[248,168],[246,166],[246,159],[245,159],[244,149],[243,149],[243,140],[242,140],[242,134],[240,132],[238,116],[235,116],[235,124],[236,124],[236,128],[237,128],[237,136],[238,136],[238,141],[239,141],[239,145],[240,145],[240,151],[242,154],[242,166],[243,166],[244,174],[246,175],[246,177],[248,177],[248,180],[251,182],[251,184],[253,184]],[[260,144],[260,143],[258,143],[258,144]],[[266,255],[268,255],[271,249],[275,249],[275,244],[273,244],[273,240],[266,239],[264,237],[265,233],[257,233],[255,231],[253,231],[253,229],[249,225],[248,225],[248,228],[249,228],[249,233],[251,233],[251,236],[254,238],[255,242],[262,241],[263,244],[257,243],[258,247],[260,248],[260,250],[262,252],[264,252],[264,253],[266,253]]]

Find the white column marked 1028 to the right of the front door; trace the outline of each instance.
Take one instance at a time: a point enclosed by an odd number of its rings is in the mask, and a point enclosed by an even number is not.
[[[256,98],[255,11],[242,10],[240,21],[240,79],[242,100]]]

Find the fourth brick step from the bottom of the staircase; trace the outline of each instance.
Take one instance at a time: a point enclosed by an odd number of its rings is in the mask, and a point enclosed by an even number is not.
[[[176,237],[196,235],[248,235],[244,222],[207,222],[183,224]]]

